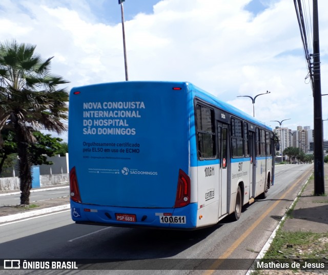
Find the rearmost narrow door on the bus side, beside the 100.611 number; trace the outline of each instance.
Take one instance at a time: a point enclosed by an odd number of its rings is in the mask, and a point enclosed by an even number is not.
[[[218,122],[219,171],[219,217],[228,213],[228,124]]]

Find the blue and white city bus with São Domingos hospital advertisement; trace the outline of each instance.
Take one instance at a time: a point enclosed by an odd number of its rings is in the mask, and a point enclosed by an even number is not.
[[[73,88],[68,143],[79,224],[200,228],[273,185],[272,129],[188,82]]]

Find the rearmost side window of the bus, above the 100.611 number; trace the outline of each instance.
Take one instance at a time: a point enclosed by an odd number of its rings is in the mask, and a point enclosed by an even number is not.
[[[197,105],[197,140],[198,140],[198,157],[215,158],[215,120],[214,111],[210,108]]]

